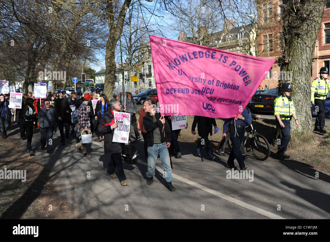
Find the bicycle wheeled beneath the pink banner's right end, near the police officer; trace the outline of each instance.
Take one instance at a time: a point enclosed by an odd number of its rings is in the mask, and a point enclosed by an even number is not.
[[[235,128],[235,127],[233,127]],[[267,160],[269,155],[270,155],[270,145],[267,141],[267,139],[261,135],[258,134],[255,129],[253,129],[252,123],[248,126],[245,126],[246,129],[249,129],[247,131],[247,136],[244,137],[243,140],[243,145],[246,148],[248,152],[248,147],[247,147],[247,141],[249,139],[250,134],[252,135],[252,138],[250,138],[250,150],[252,155],[257,159],[257,160]],[[230,140],[230,139],[229,139]],[[228,140],[228,147],[229,149],[232,148],[231,141]]]

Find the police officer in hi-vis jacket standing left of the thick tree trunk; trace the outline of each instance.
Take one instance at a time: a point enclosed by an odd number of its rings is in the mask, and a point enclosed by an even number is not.
[[[286,147],[291,139],[290,134],[290,121],[292,117],[296,121],[296,127],[299,127],[298,119],[296,116],[296,109],[293,105],[293,100],[290,96],[292,92],[292,88],[290,83],[283,83],[281,94],[274,101],[274,115],[276,116],[276,120],[279,122],[282,139],[281,143],[277,148],[277,155],[280,160],[289,159],[291,156],[286,155]]]

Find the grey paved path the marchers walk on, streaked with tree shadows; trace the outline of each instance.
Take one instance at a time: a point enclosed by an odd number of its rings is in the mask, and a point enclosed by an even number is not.
[[[17,124],[13,128],[12,133]],[[75,140],[71,145],[59,145],[59,131],[54,134],[54,153],[41,151],[40,133],[36,132],[32,147],[39,162],[44,162],[50,170],[49,176],[56,177],[54,196],[75,207],[74,215],[69,218],[330,218],[329,175],[320,172],[319,178],[315,178],[316,170],[294,160],[257,161],[250,156],[245,162],[253,170],[253,181],[227,179],[228,154],[227,157],[216,155],[213,161],[202,160],[192,155],[196,143],[181,142],[182,158],[172,156],[172,184],[177,190],[170,192],[162,177],[159,158],[154,185],[147,185],[144,141],[137,141],[139,163],[124,163],[128,186],[122,187],[118,178],[105,175],[109,156],[104,154],[103,142],[98,142],[96,137],[87,145],[90,156],[82,157],[76,151]],[[19,139],[19,134],[12,137]],[[25,142],[21,150],[25,152]],[[205,149],[202,154],[206,156]]]

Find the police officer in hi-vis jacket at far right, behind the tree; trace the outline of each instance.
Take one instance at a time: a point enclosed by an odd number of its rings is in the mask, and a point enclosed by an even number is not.
[[[315,103],[315,106],[318,107],[314,131],[326,134],[328,131],[324,129],[324,107],[325,99],[327,98],[327,94],[330,91],[329,80],[327,79],[329,75],[328,67],[321,67],[319,74],[320,76],[315,78],[311,84],[311,102],[312,104]]]

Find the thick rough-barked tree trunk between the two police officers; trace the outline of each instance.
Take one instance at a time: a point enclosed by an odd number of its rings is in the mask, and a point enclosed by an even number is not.
[[[310,73],[315,40],[320,30],[325,1],[283,0],[286,11],[283,12],[283,37],[285,50],[281,71],[289,71],[292,98],[300,126],[296,128],[291,120],[290,148],[301,148],[314,143],[311,115]],[[279,81],[280,82],[280,81]],[[281,88],[281,82],[279,83]],[[279,133],[279,127],[277,127]]]

